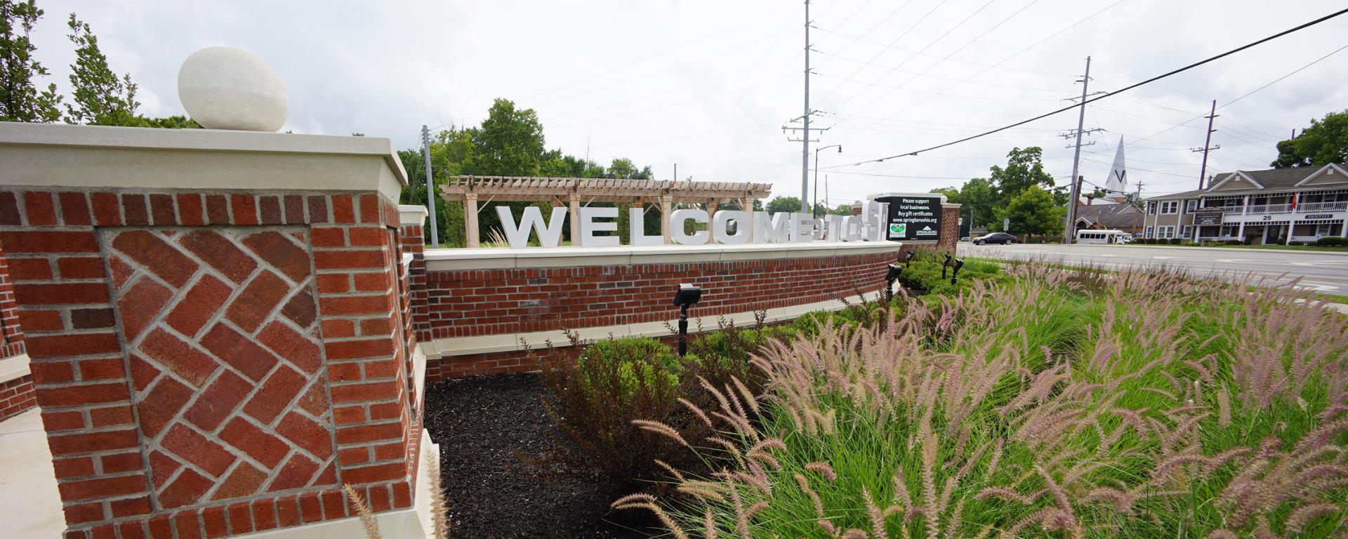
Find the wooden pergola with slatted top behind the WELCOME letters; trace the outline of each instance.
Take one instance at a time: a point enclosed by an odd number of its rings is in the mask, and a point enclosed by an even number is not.
[[[754,201],[767,198],[771,183],[687,182],[662,179],[612,178],[522,178],[522,177],[450,177],[439,187],[446,201],[464,202],[464,230],[468,247],[479,247],[477,212],[488,202],[550,202],[570,209],[572,237],[580,237],[580,209],[590,202],[619,202],[659,208],[669,216],[674,203],[705,203],[706,213],[728,202],[752,209]],[[481,206],[479,206],[481,203]],[[661,220],[665,243],[670,241],[669,220]]]

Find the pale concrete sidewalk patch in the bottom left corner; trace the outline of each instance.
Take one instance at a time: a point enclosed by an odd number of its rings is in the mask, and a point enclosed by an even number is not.
[[[51,539],[66,531],[38,408],[0,422],[0,523],[13,539]]]

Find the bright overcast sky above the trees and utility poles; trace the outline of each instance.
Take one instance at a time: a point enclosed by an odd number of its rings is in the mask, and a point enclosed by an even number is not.
[[[140,85],[143,112],[183,113],[177,73],[228,44],[270,63],[290,93],[286,129],[419,143],[422,124],[477,124],[492,98],[534,108],[549,148],[656,177],[771,182],[799,195],[801,1],[204,1],[38,0],[36,57],[63,92],[74,11],[112,67]],[[816,0],[811,108],[832,203],[926,191],[985,177],[1012,147],[1045,148],[1072,174],[1076,112],[902,159],[1069,102],[1091,55],[1091,90],[1113,90],[1343,8],[1341,0]],[[1100,128],[1081,174],[1104,185],[1124,139],[1143,195],[1197,187],[1211,106],[1246,96],[1348,44],[1348,16],[1086,106]],[[1209,174],[1259,170],[1312,117],[1348,106],[1348,53],[1219,108]],[[1188,123],[1185,123],[1189,120]],[[1175,127],[1175,124],[1181,124]],[[1150,136],[1150,137],[1148,137]],[[811,151],[813,162],[813,151]],[[813,167],[813,163],[811,163]],[[834,167],[834,168],[829,168]],[[1088,187],[1089,189],[1089,187]],[[1135,189],[1135,186],[1130,186]]]

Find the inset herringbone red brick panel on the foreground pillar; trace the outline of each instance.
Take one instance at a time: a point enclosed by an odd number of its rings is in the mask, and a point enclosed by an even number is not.
[[[102,232],[154,499],[337,485],[301,228]]]

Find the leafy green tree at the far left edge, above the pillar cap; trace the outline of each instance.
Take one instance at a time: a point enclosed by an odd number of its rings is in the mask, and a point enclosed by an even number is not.
[[[28,40],[32,24],[42,18],[34,0],[0,0],[0,121],[57,121],[61,96],[57,85],[38,90],[34,78],[47,69],[32,58],[38,50]]]

